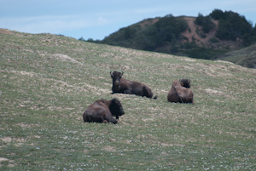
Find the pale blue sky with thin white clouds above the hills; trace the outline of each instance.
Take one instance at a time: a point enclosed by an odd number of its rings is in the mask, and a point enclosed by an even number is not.
[[[233,11],[256,23],[256,0],[0,0],[0,28],[102,40],[141,20]]]

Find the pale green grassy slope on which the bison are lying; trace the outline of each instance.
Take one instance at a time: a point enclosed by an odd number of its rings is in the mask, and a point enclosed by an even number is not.
[[[255,170],[256,70],[86,43],[0,34],[0,170]],[[111,94],[109,71],[148,84],[157,100]],[[167,102],[189,78],[195,105]],[[84,123],[118,98],[119,124]]]

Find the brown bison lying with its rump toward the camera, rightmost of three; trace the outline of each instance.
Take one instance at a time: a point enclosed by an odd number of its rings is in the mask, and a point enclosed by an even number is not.
[[[170,89],[167,100],[169,102],[174,103],[192,103],[194,94],[190,89],[190,80],[189,79],[182,79],[182,80],[175,80],[172,82],[172,88]]]

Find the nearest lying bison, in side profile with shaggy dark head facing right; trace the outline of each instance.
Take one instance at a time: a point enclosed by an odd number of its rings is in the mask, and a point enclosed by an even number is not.
[[[91,104],[86,111],[84,111],[83,117],[84,122],[96,122],[96,123],[118,123],[116,119],[119,119],[119,116],[125,114],[123,107],[119,100],[96,100]]]

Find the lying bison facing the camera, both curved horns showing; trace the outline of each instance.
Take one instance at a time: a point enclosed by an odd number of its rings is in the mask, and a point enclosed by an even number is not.
[[[113,79],[112,91],[114,93],[121,93],[121,94],[136,94],[140,96],[146,96],[148,98],[153,97],[153,93],[151,88],[143,83],[133,82],[130,80],[126,80],[123,78],[124,72],[122,71],[110,71],[110,76]],[[154,97],[157,99],[157,96]]]

